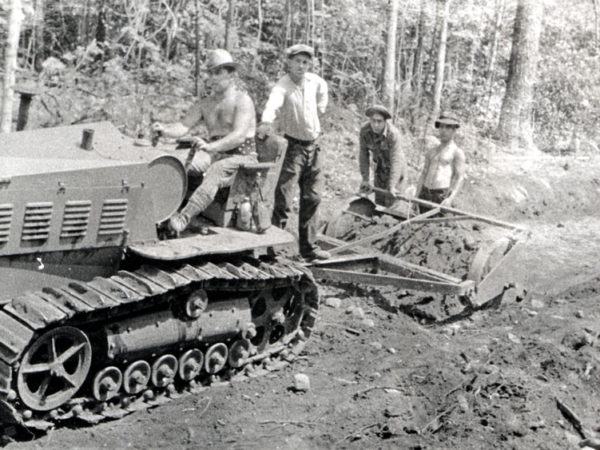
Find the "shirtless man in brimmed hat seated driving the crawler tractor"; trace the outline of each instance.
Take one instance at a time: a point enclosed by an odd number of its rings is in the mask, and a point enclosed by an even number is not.
[[[231,185],[240,164],[257,162],[254,102],[236,87],[237,68],[229,52],[213,50],[206,68],[210,94],[195,103],[181,122],[153,124],[155,131],[167,137],[181,137],[202,122],[208,131],[209,142],[196,138],[198,151],[189,167],[191,175],[204,174],[202,184],[185,208],[169,219],[169,226],[177,233],[212,203],[219,188]]]

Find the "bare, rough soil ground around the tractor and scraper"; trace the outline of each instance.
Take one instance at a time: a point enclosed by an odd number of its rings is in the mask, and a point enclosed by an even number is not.
[[[337,145],[324,217],[358,186],[352,143]],[[600,438],[600,159],[490,150],[469,174],[459,207],[531,230],[513,268],[531,298],[431,325],[381,290],[323,285],[315,332],[286,368],[6,448],[565,449]],[[334,298],[341,306],[326,305]],[[291,389],[298,373],[307,392]]]

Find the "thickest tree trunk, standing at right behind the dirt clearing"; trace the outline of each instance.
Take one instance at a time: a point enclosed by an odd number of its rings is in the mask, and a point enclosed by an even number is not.
[[[519,0],[497,136],[510,145],[533,146],[531,103],[536,79],[543,4]]]

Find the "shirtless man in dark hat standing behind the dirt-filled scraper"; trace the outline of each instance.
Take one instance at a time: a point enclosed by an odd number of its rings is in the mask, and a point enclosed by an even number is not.
[[[417,185],[417,197],[443,206],[451,206],[465,179],[465,154],[454,143],[460,126],[450,113],[442,113],[435,122],[440,145],[427,151],[425,166]],[[426,210],[422,208],[421,210]]]

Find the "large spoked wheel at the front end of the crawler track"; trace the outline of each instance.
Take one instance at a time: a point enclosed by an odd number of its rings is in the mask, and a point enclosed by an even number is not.
[[[79,390],[90,370],[92,347],[85,333],[63,326],[41,335],[27,350],[17,375],[23,403],[35,411],[49,411]]]

